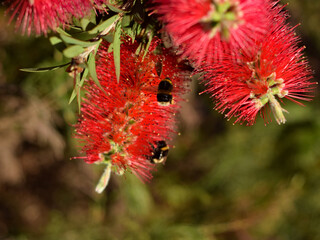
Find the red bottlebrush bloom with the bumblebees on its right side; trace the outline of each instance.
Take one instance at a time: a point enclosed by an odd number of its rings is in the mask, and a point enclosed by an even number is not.
[[[136,56],[137,44],[121,45],[121,74],[117,83],[113,53],[108,44],[99,48],[97,74],[102,88],[93,81],[86,87],[76,138],[84,144],[81,157],[88,163],[106,163],[118,173],[133,172],[142,180],[151,179],[150,156],[159,141],[175,133],[175,113],[186,91],[185,74],[166,50],[155,54],[153,42],[143,59]],[[157,71],[162,63],[162,72]],[[158,74],[161,74],[160,76]],[[157,102],[158,85],[170,78],[174,102]]]

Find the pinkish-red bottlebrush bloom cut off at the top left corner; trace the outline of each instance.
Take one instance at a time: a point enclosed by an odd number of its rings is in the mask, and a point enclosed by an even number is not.
[[[16,26],[28,34],[47,34],[49,29],[65,26],[72,17],[80,18],[92,8],[90,0],[8,0],[12,11],[10,22],[17,16]]]

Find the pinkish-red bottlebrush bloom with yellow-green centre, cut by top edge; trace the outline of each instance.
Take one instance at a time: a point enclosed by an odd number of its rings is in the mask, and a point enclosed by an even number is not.
[[[277,1],[276,1],[277,2]],[[154,0],[175,45],[197,66],[263,38],[280,7],[272,0]]]

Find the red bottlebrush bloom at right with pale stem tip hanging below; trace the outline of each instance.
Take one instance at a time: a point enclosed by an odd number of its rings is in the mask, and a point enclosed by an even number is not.
[[[255,122],[260,112],[271,109],[278,124],[285,123],[282,99],[311,100],[315,88],[312,71],[298,47],[294,28],[277,24],[264,40],[238,55],[237,61],[226,56],[221,62],[204,67],[205,92],[216,101],[216,109],[235,122]]]

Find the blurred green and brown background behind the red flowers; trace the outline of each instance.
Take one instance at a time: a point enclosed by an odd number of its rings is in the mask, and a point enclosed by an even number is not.
[[[320,1],[287,9],[320,77]],[[287,123],[233,125],[193,82],[181,136],[165,166],[142,184],[112,176],[77,156],[73,80],[63,69],[23,67],[65,60],[46,38],[27,38],[0,13],[0,239],[2,240],[318,240],[320,102],[286,101]]]

